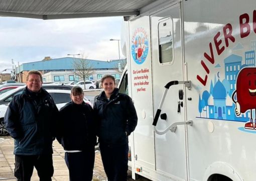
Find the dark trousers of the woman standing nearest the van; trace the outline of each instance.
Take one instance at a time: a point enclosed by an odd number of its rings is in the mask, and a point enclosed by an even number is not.
[[[108,181],[126,181],[128,144],[109,146],[99,144],[100,154]]]

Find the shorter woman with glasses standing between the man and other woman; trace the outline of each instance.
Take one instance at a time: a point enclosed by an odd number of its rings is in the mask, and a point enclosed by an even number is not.
[[[71,89],[71,102],[60,109],[58,141],[65,151],[70,181],[91,181],[96,144],[92,107],[83,101],[80,86]]]

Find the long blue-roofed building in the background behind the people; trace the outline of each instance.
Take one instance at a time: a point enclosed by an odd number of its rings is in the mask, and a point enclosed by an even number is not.
[[[74,62],[84,61],[87,75],[85,79],[100,79],[104,74],[111,74],[115,78],[120,78],[126,59],[100,61],[83,58],[63,57],[51,59],[45,57],[41,61],[23,63],[16,67],[18,80],[26,82],[26,76],[29,70],[39,70],[43,75],[44,82],[71,82],[74,80],[82,80],[79,76],[79,69],[75,68]]]

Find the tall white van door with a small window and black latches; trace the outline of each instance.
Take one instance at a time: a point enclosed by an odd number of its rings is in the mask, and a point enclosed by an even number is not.
[[[172,80],[183,80],[181,41],[181,6],[171,5],[151,15],[152,69],[154,115],[160,105],[165,85]],[[156,129],[184,121],[184,85],[169,88],[162,105]],[[168,130],[160,135],[155,131],[156,170],[173,179],[186,179],[185,125],[178,125],[175,132]]]

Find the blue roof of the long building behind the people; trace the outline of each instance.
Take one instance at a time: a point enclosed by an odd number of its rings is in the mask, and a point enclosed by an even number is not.
[[[81,58],[73,57],[63,57],[55,58],[50,60],[34,61],[29,63],[23,63],[20,65],[20,70],[17,68],[17,72],[29,71],[32,69],[36,70],[72,70],[74,69],[73,62]],[[93,69],[109,69],[109,68],[118,68],[118,63],[123,61],[120,60],[110,60],[110,61],[100,61],[93,59],[83,59],[88,60],[89,64]]]

